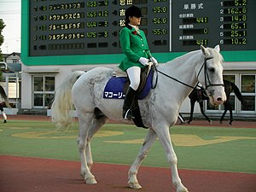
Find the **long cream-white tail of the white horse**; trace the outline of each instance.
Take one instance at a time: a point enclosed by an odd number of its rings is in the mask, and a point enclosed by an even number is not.
[[[74,108],[72,99],[73,84],[84,74],[83,71],[76,71],[67,76],[55,91],[55,100],[52,103],[52,121],[58,128],[67,128],[73,122],[70,110]]]

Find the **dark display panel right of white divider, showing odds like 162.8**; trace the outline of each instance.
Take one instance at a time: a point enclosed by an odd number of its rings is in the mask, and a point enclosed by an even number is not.
[[[253,0],[172,1],[172,51],[189,51],[200,44],[255,49],[255,7]]]

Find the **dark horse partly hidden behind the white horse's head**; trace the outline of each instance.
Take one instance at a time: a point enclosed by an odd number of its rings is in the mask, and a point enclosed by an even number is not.
[[[220,124],[222,124],[224,116],[227,113],[227,111],[229,110],[230,111],[230,123],[229,123],[229,125],[232,125],[233,113],[232,113],[232,105],[229,102],[230,93],[234,91],[237,98],[240,100],[241,104],[245,104],[245,103],[243,102],[241,92],[238,89],[238,87],[236,86],[236,84],[234,84],[234,83],[232,83],[228,80],[224,80],[224,90],[225,90],[225,93],[226,93],[226,96],[227,96],[227,100],[226,100],[226,102],[224,102],[224,113],[222,114],[219,122],[220,122]],[[201,113],[205,116],[207,121],[210,124],[212,124],[212,120],[207,117],[207,115],[206,115],[206,113],[204,112],[204,109],[203,109],[203,101],[209,99],[205,90],[198,90],[198,89],[192,90],[192,92],[189,94],[189,99],[190,99],[190,107],[191,108],[190,108],[190,118],[189,118],[189,121],[187,123],[189,124],[193,120],[193,112],[194,112],[194,108],[195,108],[195,102],[198,102],[199,105],[200,105]]]

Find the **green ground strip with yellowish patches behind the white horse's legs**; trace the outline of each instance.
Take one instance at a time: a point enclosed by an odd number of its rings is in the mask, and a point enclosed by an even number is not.
[[[91,144],[94,161],[131,165],[146,133],[134,125],[104,125]],[[0,154],[79,160],[77,135],[78,124],[55,131],[51,122],[12,120],[0,125]],[[171,136],[179,168],[256,173],[256,129],[177,125]],[[158,140],[143,166],[169,166]]]

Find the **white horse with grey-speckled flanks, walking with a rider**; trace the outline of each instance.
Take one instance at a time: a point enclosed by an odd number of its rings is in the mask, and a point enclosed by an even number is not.
[[[155,89],[150,90],[148,96],[139,101],[143,124],[149,129],[143,147],[128,173],[128,184],[132,189],[142,188],[137,180],[137,172],[152,144],[159,137],[171,165],[174,187],[177,192],[188,191],[178,176],[177,156],[172,147],[169,127],[176,123],[183,101],[198,82],[207,88],[213,105],[222,104],[226,100],[222,61],[223,57],[219,54],[218,45],[214,49],[201,46],[199,50],[157,66],[159,75]],[[72,123],[69,111],[74,104],[79,118],[80,173],[85,183],[96,183],[94,175],[90,172],[93,164],[90,151],[91,138],[108,119],[124,122],[123,100],[109,100],[102,97],[104,86],[112,73],[113,69],[106,67],[96,67],[87,73],[73,72],[56,90],[52,106],[52,119],[59,125],[67,127]]]

